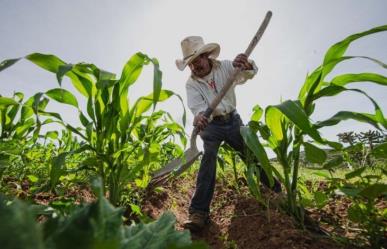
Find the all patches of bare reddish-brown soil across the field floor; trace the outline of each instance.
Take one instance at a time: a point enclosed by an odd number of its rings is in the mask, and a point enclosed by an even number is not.
[[[69,187],[64,193],[57,195],[52,192],[31,194],[28,191],[27,181],[18,184],[14,179],[8,179],[7,184],[13,195],[21,199],[33,199],[35,203],[41,205],[63,199],[76,204],[95,200],[90,187],[86,185]],[[278,200],[283,198],[281,195],[261,189],[265,206],[249,194],[245,182],[241,181],[241,185],[237,190],[234,186],[228,185],[227,181],[217,183],[211,205],[211,223],[203,231],[191,233],[193,240],[204,240],[214,249],[367,248],[358,246],[361,229],[348,221],[347,210],[351,202],[345,197],[335,197],[321,209],[307,209],[309,223],[313,224],[309,228],[313,229],[301,229],[279,207]],[[325,187],[322,183],[321,191]],[[184,230],[183,223],[188,219],[188,206],[194,189],[195,179],[192,175],[174,179],[159,191],[147,192],[142,198],[142,211],[152,219],[157,219],[165,211],[171,211],[176,216],[176,229]],[[387,208],[387,201],[380,199],[377,206]],[[130,213],[129,208],[126,214],[131,216]]]

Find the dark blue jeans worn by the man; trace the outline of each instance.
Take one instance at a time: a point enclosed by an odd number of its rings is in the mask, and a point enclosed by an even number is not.
[[[235,149],[241,159],[245,161],[247,146],[240,134],[240,126],[243,122],[239,114],[235,113],[228,121],[213,120],[200,133],[204,142],[204,155],[200,163],[199,173],[196,178],[196,190],[191,199],[189,212],[200,212],[208,214],[210,212],[210,204],[215,189],[216,178],[216,159],[220,144],[225,141],[233,149]],[[260,168],[261,182],[269,186],[267,175]],[[281,189],[278,180],[274,179],[274,186],[272,189],[279,192]]]

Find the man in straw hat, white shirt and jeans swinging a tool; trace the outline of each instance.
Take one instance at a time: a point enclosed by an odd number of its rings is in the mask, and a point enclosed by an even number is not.
[[[186,83],[188,107],[194,114],[194,126],[200,130],[204,143],[204,155],[196,180],[196,190],[189,208],[189,220],[184,227],[191,231],[202,229],[209,221],[210,203],[214,193],[216,158],[220,144],[225,141],[238,151],[242,160],[246,159],[246,145],[240,135],[243,125],[236,112],[234,87],[254,77],[258,72],[255,63],[245,54],[239,54],[231,61],[218,61],[220,46],[216,43],[205,44],[199,36],[189,36],[181,42],[183,59],[176,60],[179,70],[186,66],[191,76]],[[235,68],[242,71],[237,75],[234,85],[224,96],[213,114],[207,119],[203,113],[215,96],[220,92]],[[268,178],[260,167],[261,181],[269,186]],[[273,190],[281,191],[278,181]]]

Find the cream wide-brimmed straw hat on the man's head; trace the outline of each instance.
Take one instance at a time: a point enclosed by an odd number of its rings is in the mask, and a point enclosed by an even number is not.
[[[203,38],[200,36],[188,36],[181,41],[181,50],[183,51],[183,59],[177,59],[176,66],[180,71],[183,71],[191,61],[203,53],[210,52],[209,58],[217,58],[220,46],[217,43],[204,44]]]

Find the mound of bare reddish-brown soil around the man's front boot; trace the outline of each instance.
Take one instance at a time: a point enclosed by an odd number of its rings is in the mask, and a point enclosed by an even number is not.
[[[183,230],[183,222],[188,218],[187,210],[194,188],[192,176],[175,179],[168,186],[163,186],[162,192],[150,192],[144,198],[142,209],[154,219],[167,210],[172,211],[177,219],[176,229]],[[246,186],[238,192],[226,183],[217,183],[211,205],[211,223],[203,231],[192,233],[192,239],[204,240],[210,248],[215,249],[360,248],[348,243],[339,244],[332,237],[321,233],[321,230],[320,233],[316,233],[301,229],[276,205],[277,194],[263,190],[263,195],[265,199],[270,200],[269,208],[253,198]],[[314,214],[312,211],[311,214]],[[321,215],[317,211],[315,216],[311,215],[316,224]],[[322,231],[327,231],[326,228]]]

